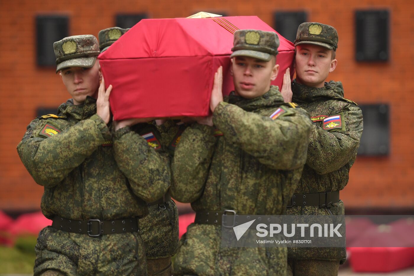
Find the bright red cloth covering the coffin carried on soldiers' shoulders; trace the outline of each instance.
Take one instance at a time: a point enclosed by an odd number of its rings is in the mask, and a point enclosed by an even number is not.
[[[220,65],[223,94],[233,90],[233,33],[222,26],[228,22],[238,29],[274,31],[257,16],[142,19],[121,36],[98,57],[106,87],[113,85],[113,119],[207,116]],[[272,84],[281,87],[286,68],[293,76],[294,46],[279,39],[280,70]]]

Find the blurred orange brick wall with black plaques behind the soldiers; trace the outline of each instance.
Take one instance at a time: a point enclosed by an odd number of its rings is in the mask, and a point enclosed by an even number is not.
[[[288,39],[304,21],[334,26],[338,66],[329,79],[341,80],[345,97],[364,114],[359,156],[341,192],[347,213],[414,212],[414,2],[408,0],[1,0],[0,209],[40,208],[43,187],[16,146],[32,119],[55,113],[69,98],[55,74],[53,41],[199,11],[257,15]]]

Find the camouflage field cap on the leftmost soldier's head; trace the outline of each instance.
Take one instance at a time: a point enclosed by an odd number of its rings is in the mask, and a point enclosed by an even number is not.
[[[101,53],[98,40],[91,34],[65,37],[53,43],[53,50],[58,65],[56,73],[72,66],[90,68]]]

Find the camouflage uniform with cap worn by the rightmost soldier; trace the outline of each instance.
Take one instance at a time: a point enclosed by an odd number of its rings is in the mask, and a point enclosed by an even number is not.
[[[316,27],[313,27],[315,25]],[[309,34],[312,28],[319,29],[321,34]],[[309,37],[318,39],[318,36],[321,36],[319,40],[307,40]],[[299,26],[295,46],[310,43],[336,50],[337,42],[337,32],[333,27],[307,22]],[[354,164],[362,134],[361,109],[354,102],[344,99],[341,82],[325,82],[325,87],[313,88],[298,84],[294,80],[292,92],[292,101],[308,111],[313,121],[308,157],[295,194],[314,194],[344,189],[348,183],[349,169]],[[329,118],[334,117],[339,118],[337,123],[327,123],[330,121]],[[287,208],[286,214],[344,215],[344,203],[339,200],[328,206],[293,206]],[[343,263],[346,259],[345,248],[340,247],[290,247],[288,252],[289,264],[294,266],[292,267],[294,275],[337,274],[339,262]],[[307,273],[304,274],[304,271]]]

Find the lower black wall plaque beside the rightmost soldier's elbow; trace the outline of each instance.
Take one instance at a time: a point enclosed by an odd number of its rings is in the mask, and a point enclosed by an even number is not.
[[[378,156],[390,153],[390,107],[388,104],[360,104],[363,132],[358,155]]]

